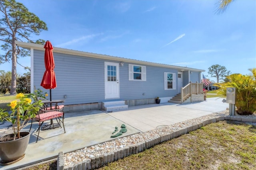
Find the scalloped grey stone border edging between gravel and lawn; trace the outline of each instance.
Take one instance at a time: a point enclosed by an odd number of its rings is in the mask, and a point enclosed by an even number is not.
[[[104,153],[102,156],[95,156],[91,159],[79,162],[78,164],[71,164],[68,166],[64,166],[64,153],[59,152],[57,159],[57,170],[91,170],[94,168],[100,168],[104,164],[114,162],[118,159],[122,159],[131,154],[137,154],[139,152],[151,148],[156,144],[168,141],[173,138],[177,138],[183,134],[187,134],[188,132],[197,130],[210,123],[216,123],[218,121],[226,120],[256,123],[256,118],[252,119],[248,117],[221,116],[213,119],[208,119],[197,125],[185,127],[180,130],[175,130],[174,132],[171,133],[161,134],[160,136],[155,136],[154,138],[145,140],[144,142],[137,143],[134,146],[126,146],[124,148],[114,150],[114,152]]]

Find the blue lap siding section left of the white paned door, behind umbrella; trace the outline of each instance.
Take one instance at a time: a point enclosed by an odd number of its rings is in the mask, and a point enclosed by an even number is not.
[[[57,87],[52,89],[53,100],[66,95],[65,105],[73,105],[104,99],[104,61],[62,53],[54,53],[54,61]],[[34,50],[34,85],[49,94],[40,86],[44,71],[44,51]]]

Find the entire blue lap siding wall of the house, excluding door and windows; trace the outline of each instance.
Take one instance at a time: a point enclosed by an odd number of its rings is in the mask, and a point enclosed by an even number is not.
[[[66,95],[65,105],[109,101],[105,99],[104,61],[120,61],[62,53],[54,53],[54,61],[57,87],[52,89],[52,100],[64,99]],[[116,100],[171,97],[178,93],[176,69],[146,65],[146,81],[129,81],[128,64],[124,63],[123,67],[119,67],[120,99]],[[44,71],[44,51],[34,50],[33,86],[49,94],[49,89],[40,86]],[[176,73],[176,90],[164,90],[164,72]]]

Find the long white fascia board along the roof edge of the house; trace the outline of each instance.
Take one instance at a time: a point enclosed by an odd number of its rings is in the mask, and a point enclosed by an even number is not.
[[[38,50],[44,51],[44,45],[41,45],[41,44],[19,42],[19,41],[15,41],[15,43],[16,43],[16,45],[18,45],[22,48],[38,49]],[[65,48],[60,48],[60,47],[53,47],[53,52],[70,54],[70,55],[78,55],[78,56],[84,56],[84,57],[92,57],[92,58],[98,58],[98,59],[108,59],[108,60],[127,62],[127,63],[136,63],[136,64],[141,64],[141,65],[152,65],[152,66],[157,66],[157,67],[166,67],[166,68],[178,69],[178,71],[181,71],[181,70],[201,71],[201,72],[205,71],[202,69],[180,67],[180,66],[161,64],[161,63],[152,63],[152,62],[148,62],[148,61],[140,61],[140,60],[136,60],[136,59],[128,59],[128,58],[122,58],[122,57],[114,57],[114,56],[110,56],[110,55],[88,53],[88,52],[84,52],[84,51],[77,51],[77,50],[65,49]]]

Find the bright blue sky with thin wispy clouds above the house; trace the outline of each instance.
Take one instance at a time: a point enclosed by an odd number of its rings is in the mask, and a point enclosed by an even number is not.
[[[32,40],[53,46],[231,73],[256,67],[256,1],[235,0],[216,14],[217,0],[17,0],[47,24]],[[18,61],[30,66],[30,57]],[[11,71],[11,64],[0,70]],[[26,71],[17,68],[17,73]],[[209,77],[210,80],[214,78]]]

